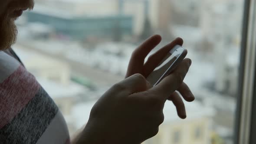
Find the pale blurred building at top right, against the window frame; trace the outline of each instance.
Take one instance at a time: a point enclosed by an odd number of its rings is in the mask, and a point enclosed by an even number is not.
[[[211,42],[239,44],[242,15],[243,0],[203,0],[200,8],[203,36]]]

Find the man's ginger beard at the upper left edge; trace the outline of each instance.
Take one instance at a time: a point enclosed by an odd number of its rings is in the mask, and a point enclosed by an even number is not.
[[[9,49],[16,42],[17,33],[14,20],[4,14],[0,19],[0,50]]]

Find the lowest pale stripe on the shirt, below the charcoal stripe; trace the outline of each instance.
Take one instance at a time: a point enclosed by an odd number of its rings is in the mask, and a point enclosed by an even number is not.
[[[65,144],[69,138],[66,121],[59,111],[36,144]]]

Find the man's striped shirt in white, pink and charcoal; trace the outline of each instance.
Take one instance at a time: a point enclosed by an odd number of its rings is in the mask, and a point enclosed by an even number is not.
[[[19,61],[0,51],[0,141],[64,144],[67,139],[66,122],[47,92]]]

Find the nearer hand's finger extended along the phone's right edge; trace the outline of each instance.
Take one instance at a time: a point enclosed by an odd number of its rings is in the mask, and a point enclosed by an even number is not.
[[[192,61],[184,59],[166,78],[164,78],[158,85],[154,86],[154,92],[160,93],[164,99],[167,99],[173,92],[175,92],[182,84]]]

